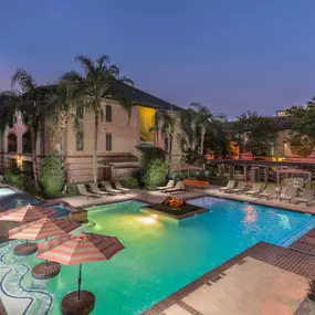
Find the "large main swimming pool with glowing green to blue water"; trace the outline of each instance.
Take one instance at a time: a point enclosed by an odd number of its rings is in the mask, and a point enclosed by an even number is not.
[[[107,262],[83,265],[83,290],[96,295],[94,315],[136,315],[259,241],[280,244],[314,218],[217,198],[189,201],[209,212],[181,221],[140,210],[141,202],[124,201],[87,208],[94,227],[85,229],[116,235],[126,249]],[[0,249],[1,252],[1,249]],[[15,258],[10,258],[15,260]],[[23,259],[33,266],[34,255]],[[62,266],[57,277],[41,283],[54,296],[50,314],[60,314],[60,302],[76,290],[77,265]],[[28,287],[36,282],[30,274]],[[39,284],[36,284],[39,285]]]

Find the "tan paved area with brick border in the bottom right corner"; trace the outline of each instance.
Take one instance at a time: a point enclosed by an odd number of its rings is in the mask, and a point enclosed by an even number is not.
[[[303,248],[302,251],[301,243],[307,245],[307,249]],[[143,315],[309,315],[305,294],[307,279],[315,277],[314,252],[315,229],[288,249],[260,242],[159,302]],[[246,267],[238,266],[243,264]],[[209,291],[211,295],[208,294]],[[233,301],[222,302],[224,297]],[[222,302],[221,306],[218,298]],[[204,308],[204,305],[208,306]]]

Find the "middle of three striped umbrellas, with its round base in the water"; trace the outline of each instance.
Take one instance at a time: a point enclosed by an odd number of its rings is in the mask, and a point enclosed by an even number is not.
[[[9,231],[9,239],[25,239],[25,240],[42,240],[52,237],[67,235],[69,232],[77,229],[81,224],[74,220],[69,219],[49,219],[43,218],[38,221],[27,223]],[[48,260],[45,265],[39,264],[33,269],[33,275],[35,277],[46,277],[46,273],[50,277],[56,275],[60,271],[60,265],[52,264],[51,270],[48,270]]]

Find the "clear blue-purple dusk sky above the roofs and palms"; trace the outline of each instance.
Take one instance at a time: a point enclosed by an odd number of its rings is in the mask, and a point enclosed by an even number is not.
[[[315,95],[314,0],[1,0],[0,88],[111,56],[136,87],[179,106],[273,115]]]

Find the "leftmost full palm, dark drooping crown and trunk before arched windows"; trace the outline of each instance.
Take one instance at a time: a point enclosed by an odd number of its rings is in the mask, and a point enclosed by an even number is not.
[[[39,190],[36,143],[40,126],[45,117],[45,92],[38,87],[33,76],[23,69],[18,69],[11,80],[12,87],[18,86],[19,92],[11,98],[11,106],[20,112],[22,122],[31,134],[32,164],[35,188]],[[14,101],[14,102],[13,102]]]

